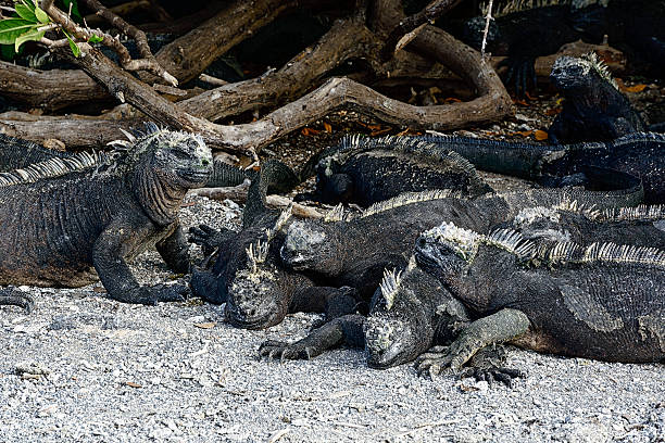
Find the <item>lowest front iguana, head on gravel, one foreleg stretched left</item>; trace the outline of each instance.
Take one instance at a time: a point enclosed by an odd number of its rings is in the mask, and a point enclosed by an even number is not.
[[[310,359],[343,344],[365,349],[367,365],[386,369],[412,362],[434,344],[451,343],[470,322],[466,307],[436,278],[419,269],[412,256],[403,273],[384,273],[367,317],[348,314],[335,318],[293,343],[267,340],[259,354],[268,359]],[[476,357],[463,377],[498,380],[507,385],[514,378],[524,377],[518,370],[501,366],[503,350]]]

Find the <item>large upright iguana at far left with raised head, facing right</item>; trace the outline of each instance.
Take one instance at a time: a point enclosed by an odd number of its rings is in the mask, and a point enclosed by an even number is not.
[[[99,278],[121,302],[181,300],[185,288],[139,286],[126,260],[156,245],[171,269],[187,273],[178,210],[211,172],[200,137],[148,124],[130,149],[101,163],[20,175],[0,187],[0,284],[80,287]]]

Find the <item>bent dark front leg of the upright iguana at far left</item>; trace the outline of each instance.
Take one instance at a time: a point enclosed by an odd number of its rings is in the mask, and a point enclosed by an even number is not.
[[[139,286],[125,261],[129,253],[146,238],[155,235],[158,229],[146,217],[118,218],[97,238],[92,248],[92,265],[111,299],[147,305],[183,300],[183,294],[187,293],[187,288],[183,286]]]

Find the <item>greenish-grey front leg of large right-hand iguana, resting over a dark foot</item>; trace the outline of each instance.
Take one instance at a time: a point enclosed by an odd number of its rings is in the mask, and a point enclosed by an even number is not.
[[[472,322],[444,349],[435,347],[416,359],[418,374],[436,376],[449,368],[459,372],[476,352],[492,343],[502,343],[527,332],[529,318],[522,311],[505,308]]]

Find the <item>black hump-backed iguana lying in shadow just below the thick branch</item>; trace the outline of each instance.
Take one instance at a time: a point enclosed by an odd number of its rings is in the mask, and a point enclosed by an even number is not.
[[[368,206],[430,189],[467,197],[492,192],[460,154],[410,137],[344,137],[317,159],[315,195],[326,203]]]

